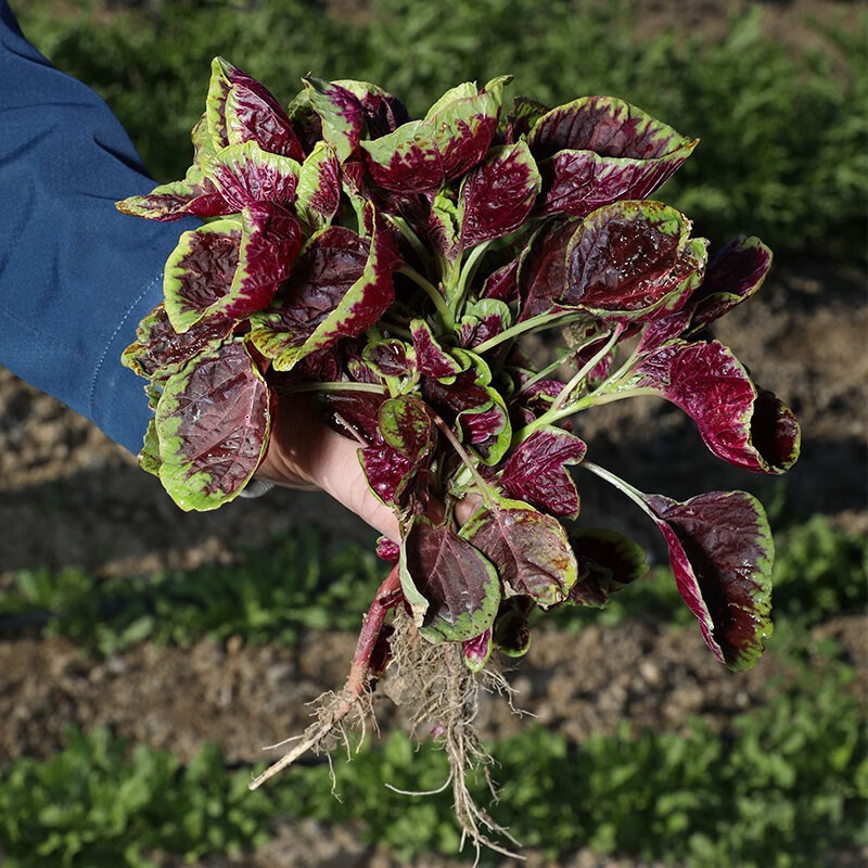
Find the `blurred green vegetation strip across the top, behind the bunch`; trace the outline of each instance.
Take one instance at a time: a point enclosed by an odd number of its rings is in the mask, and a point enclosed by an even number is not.
[[[312,0],[12,5],[35,44],[105,97],[159,181],[183,176],[217,54],[284,103],[312,73],[379,84],[419,116],[460,81],[510,73],[514,94],[609,93],[699,137],[665,197],[713,242],[748,231],[779,254],[865,257],[865,13],[857,27],[807,21],[812,48],[796,49],[766,34],[761,5],[713,40],[646,37],[638,0],[336,4],[349,20]]]

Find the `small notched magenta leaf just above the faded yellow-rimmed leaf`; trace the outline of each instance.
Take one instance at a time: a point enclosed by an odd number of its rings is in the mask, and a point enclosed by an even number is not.
[[[587,448],[562,429],[545,427],[512,451],[500,481],[511,497],[560,519],[575,519],[578,492],[565,465],[582,461]]]

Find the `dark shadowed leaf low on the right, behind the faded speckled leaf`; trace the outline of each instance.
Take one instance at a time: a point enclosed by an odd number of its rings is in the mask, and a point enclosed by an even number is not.
[[[570,588],[575,605],[602,608],[609,598],[648,572],[644,549],[616,531],[580,527],[570,533],[578,580]]]

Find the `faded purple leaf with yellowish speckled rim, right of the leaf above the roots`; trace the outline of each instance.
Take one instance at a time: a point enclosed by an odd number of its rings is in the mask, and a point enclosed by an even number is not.
[[[539,605],[566,598],[575,584],[576,560],[563,526],[521,500],[483,507],[461,536],[497,564],[506,593],[524,593]]]

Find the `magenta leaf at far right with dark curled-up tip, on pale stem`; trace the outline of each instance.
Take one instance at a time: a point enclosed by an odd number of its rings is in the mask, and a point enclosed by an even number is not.
[[[757,391],[732,352],[717,341],[668,344],[642,359],[635,373],[634,387],[680,407],[724,461],[783,473],[799,457],[795,417],[771,393]]]

